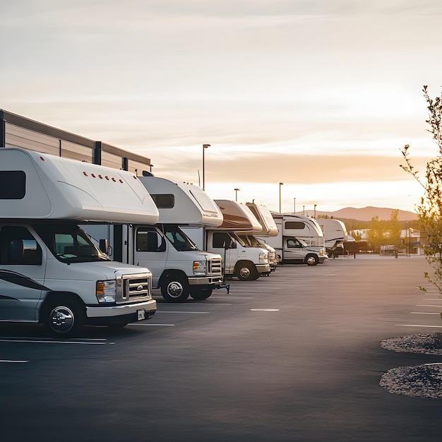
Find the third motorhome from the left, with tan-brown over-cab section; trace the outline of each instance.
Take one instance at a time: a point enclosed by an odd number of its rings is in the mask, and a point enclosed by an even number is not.
[[[236,232],[260,232],[261,224],[244,204],[237,201],[215,200],[222,213],[220,226],[184,226],[186,234],[201,247],[213,253],[220,253],[224,259],[225,275],[239,280],[256,280],[270,274],[268,250],[249,246]]]

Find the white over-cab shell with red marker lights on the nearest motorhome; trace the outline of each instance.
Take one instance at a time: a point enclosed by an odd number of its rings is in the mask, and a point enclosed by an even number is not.
[[[18,148],[1,150],[0,167],[26,176],[23,198],[3,199],[0,219],[158,220],[153,199],[131,172]]]

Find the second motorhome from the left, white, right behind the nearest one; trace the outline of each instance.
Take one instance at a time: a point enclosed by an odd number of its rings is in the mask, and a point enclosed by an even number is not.
[[[97,233],[93,228],[88,232],[96,239],[111,241],[114,259],[148,267],[153,289],[159,289],[168,302],[184,302],[189,295],[196,300],[208,299],[213,289],[228,289],[223,283],[221,256],[198,249],[179,227],[220,225],[222,214],[213,199],[193,184],[151,174],[138,179],[155,201],[157,222],[149,223],[146,217],[124,226],[122,232]]]

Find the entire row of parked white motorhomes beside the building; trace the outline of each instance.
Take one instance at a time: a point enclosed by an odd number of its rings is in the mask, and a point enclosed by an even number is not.
[[[323,263],[347,234],[333,220],[321,229],[193,184],[18,148],[0,150],[0,169],[0,321],[57,335],[151,318],[153,289],[207,299],[229,277]]]

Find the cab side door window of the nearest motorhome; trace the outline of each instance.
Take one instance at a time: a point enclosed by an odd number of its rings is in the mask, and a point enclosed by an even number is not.
[[[1,228],[0,264],[42,264],[42,249],[26,227],[4,226]]]

